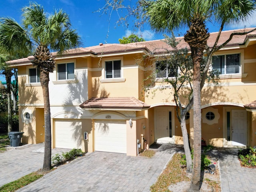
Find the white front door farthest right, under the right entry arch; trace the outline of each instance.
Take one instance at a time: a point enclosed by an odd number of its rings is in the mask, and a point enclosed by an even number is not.
[[[246,110],[232,110],[232,145],[247,145]]]

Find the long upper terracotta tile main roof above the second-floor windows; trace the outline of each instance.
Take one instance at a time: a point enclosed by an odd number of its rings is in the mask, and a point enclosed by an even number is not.
[[[222,44],[226,40],[228,40],[230,34],[232,32],[244,32],[244,31],[250,31],[254,28],[246,28],[246,29],[237,29],[237,30],[228,30],[228,31],[222,31],[218,45]],[[210,38],[208,39],[208,46],[212,47],[214,45],[216,36],[218,32],[210,33]],[[251,32],[247,35],[236,35],[233,36],[232,40],[226,45],[228,46],[238,46],[241,44],[245,44],[248,37],[256,37],[256,31]],[[184,41],[183,37],[177,37],[178,40],[180,40],[180,43],[178,45],[178,48],[189,48],[188,44]],[[172,48],[170,48],[165,42],[164,39],[162,40],[152,40],[152,41],[144,41],[144,42],[136,42],[136,43],[129,43],[129,44],[99,44],[97,46],[90,46],[86,48],[78,48],[78,49],[72,49],[69,50],[66,53],[66,56],[79,56],[84,54],[92,54],[96,56],[101,56],[102,54],[115,54],[118,52],[132,52],[132,51],[146,51],[146,52],[152,52],[154,54],[160,54],[166,51],[171,51]],[[52,53],[53,56],[56,56],[56,52]],[[33,60],[33,56],[29,56],[28,58],[23,58],[19,60],[12,60],[8,62],[9,64],[21,64],[21,63],[27,63],[31,62]]]

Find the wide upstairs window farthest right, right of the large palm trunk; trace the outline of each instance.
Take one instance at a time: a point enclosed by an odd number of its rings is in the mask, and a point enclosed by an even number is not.
[[[213,56],[212,69],[218,70],[220,74],[240,73],[240,54]]]

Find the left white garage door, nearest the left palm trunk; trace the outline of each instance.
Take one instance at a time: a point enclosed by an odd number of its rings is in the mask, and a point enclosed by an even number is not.
[[[55,120],[55,147],[81,148],[82,123],[78,120]]]

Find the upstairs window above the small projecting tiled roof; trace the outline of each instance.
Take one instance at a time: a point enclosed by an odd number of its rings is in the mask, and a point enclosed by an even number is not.
[[[106,78],[121,77],[121,60],[105,62],[105,77]]]

